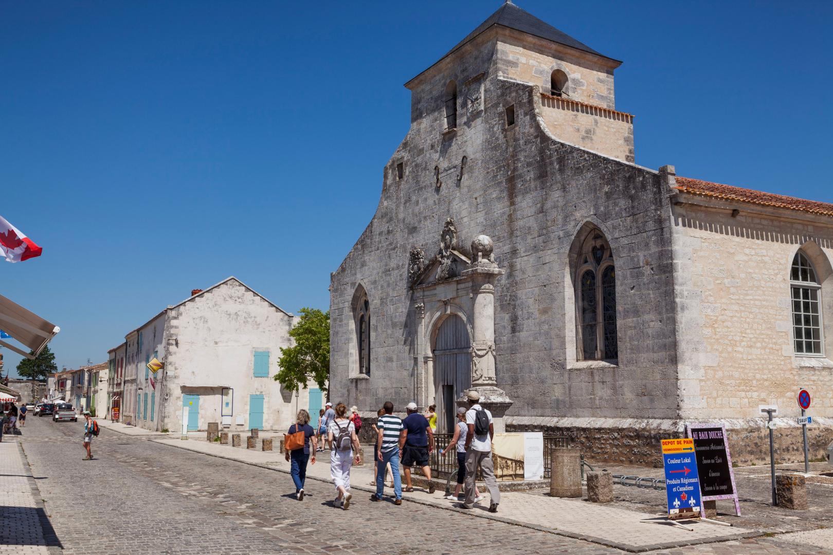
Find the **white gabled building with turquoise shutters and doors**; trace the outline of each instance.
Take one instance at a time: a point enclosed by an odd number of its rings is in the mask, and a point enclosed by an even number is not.
[[[191,431],[210,422],[232,432],[288,428],[309,405],[307,389],[292,394],[272,379],[293,319],[234,277],[192,290],[125,336],[126,374],[135,376],[124,390],[129,424],[176,432],[187,406]],[[147,368],[154,358],[164,364],[156,374]]]

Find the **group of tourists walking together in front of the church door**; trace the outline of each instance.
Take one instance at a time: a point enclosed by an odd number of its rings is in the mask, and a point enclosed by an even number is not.
[[[446,499],[458,501],[461,489],[465,487],[461,508],[471,509],[475,503],[481,502],[484,497],[478,492],[475,483],[477,469],[480,468],[491,496],[489,512],[496,513],[500,492],[491,461],[491,439],[495,434],[493,420],[491,413],[481,406],[480,394],[476,390],[470,390],[466,399],[468,408],[457,409],[451,443],[439,452],[440,456],[453,452],[457,457],[456,488]],[[426,418],[419,413],[416,403],[409,403],[406,407],[407,417],[400,419],[393,414],[393,408],[392,402],[387,401],[379,409],[377,422],[372,426],[376,434],[373,445],[376,493],[371,495],[371,501],[382,501],[385,478],[390,473],[393,504],[402,505],[402,492],[414,491],[412,466],[421,468],[427,479],[428,493],[436,491],[429,464],[436,446],[436,411],[433,405],[429,407]],[[353,497],[350,471],[354,463],[361,461],[362,445],[359,443],[358,432],[362,428],[362,417],[355,406],[348,411],[343,403],[338,403],[335,408],[332,403],[327,403],[318,415],[315,428],[310,425],[310,419],[306,410],[299,410],[296,423],[287,430],[285,440],[286,460],[291,463],[292,480],[295,483],[295,498],[303,500],[307,464],[316,463],[316,453],[323,451],[326,444],[330,450],[330,476],[336,488],[333,506],[347,510]],[[404,490],[399,473],[400,463],[405,468]]]

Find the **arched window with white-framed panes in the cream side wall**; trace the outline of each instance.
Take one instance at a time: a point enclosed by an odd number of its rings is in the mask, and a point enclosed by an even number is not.
[[[821,284],[816,269],[801,250],[792,260],[790,283],[796,354],[822,355]]]

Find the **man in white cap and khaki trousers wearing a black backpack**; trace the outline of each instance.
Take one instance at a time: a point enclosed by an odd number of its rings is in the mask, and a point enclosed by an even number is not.
[[[481,407],[480,394],[470,389],[466,394],[469,409],[466,411],[466,501],[462,508],[474,508],[474,504],[480,501],[480,493],[477,492],[475,477],[477,467],[481,469],[486,488],[489,488],[491,504],[489,513],[497,513],[497,505],[501,503],[501,493],[497,489],[495,479],[495,467],[491,462],[491,439],[495,437],[495,426],[491,419],[491,413]]]

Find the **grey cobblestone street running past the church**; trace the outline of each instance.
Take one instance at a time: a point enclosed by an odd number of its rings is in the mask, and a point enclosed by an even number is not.
[[[298,503],[286,473],[107,429],[83,462],[80,423],[30,420],[16,441],[57,538],[47,553],[622,553],[416,503],[370,503],[364,493],[344,512],[320,481],[308,480]],[[2,476],[4,493],[12,478]],[[656,553],[833,552],[776,537]]]

